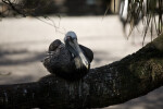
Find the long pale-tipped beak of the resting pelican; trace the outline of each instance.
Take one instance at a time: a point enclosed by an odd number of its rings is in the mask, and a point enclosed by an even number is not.
[[[86,56],[84,55],[83,50],[80,49],[80,47],[78,46],[78,43],[76,39],[74,39],[71,44],[70,44],[73,49],[76,51],[77,56],[80,58],[83,64],[89,69],[89,63],[88,60],[86,58]]]

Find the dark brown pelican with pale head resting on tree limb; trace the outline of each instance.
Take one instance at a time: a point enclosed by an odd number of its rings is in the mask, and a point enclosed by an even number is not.
[[[91,49],[79,45],[77,35],[70,31],[65,34],[64,44],[60,39],[50,44],[42,63],[51,74],[67,81],[77,81],[89,72],[92,59]]]

